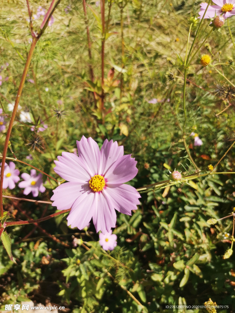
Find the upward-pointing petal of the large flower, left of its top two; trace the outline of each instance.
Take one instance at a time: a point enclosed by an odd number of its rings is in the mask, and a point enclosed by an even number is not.
[[[89,137],[82,136],[80,141],[77,141],[78,156],[89,169],[90,177],[98,173],[100,168],[100,149],[97,143]]]

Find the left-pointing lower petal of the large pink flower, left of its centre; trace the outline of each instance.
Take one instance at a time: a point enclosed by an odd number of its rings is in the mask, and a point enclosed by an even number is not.
[[[82,193],[89,190],[89,185],[84,187],[77,182],[65,182],[53,190],[54,195],[50,198],[54,201],[52,206],[57,207],[57,210],[70,209],[75,200],[80,197]]]

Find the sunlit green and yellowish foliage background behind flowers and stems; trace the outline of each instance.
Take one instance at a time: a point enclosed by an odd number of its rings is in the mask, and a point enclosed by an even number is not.
[[[120,81],[115,87],[108,80],[105,83],[103,116],[92,93],[102,89],[100,7],[95,1],[88,2],[98,14],[96,19],[87,7],[92,59],[88,56],[82,2],[62,1],[53,14],[54,24],[36,45],[27,77],[34,84],[26,81],[20,100],[22,110],[29,110],[33,124],[40,117],[46,120],[48,129],[40,133],[42,144],[32,153],[26,145],[35,135],[30,130],[32,124],[16,121],[11,135],[14,154],[57,179],[60,177],[53,171],[53,161],[62,151],[73,152],[76,140],[84,135],[94,138],[100,147],[106,138],[124,145],[125,153],[131,153],[138,161],[138,175],[130,182],[134,187],[168,179],[168,168],[171,171],[176,168],[184,175],[191,173],[193,166],[179,129],[179,123],[184,122],[183,67],[176,52],[184,57],[187,18],[199,11],[201,1],[112,1],[109,33],[113,34],[105,43],[105,78],[114,68],[114,80]],[[105,3],[107,18],[110,2]],[[3,108],[11,115],[7,105],[15,100],[31,35],[26,2],[9,0],[1,4],[1,64],[8,62],[9,66],[2,69],[0,92]],[[31,1],[34,14],[39,5],[49,7],[46,1]],[[120,14],[124,5],[122,55]],[[67,6],[70,9],[66,14]],[[198,42],[210,31],[208,24],[209,20],[203,23]],[[35,29],[39,25],[35,20]],[[230,25],[233,33],[233,17]],[[194,35],[195,32],[190,43]],[[227,27],[221,33],[213,32],[207,44],[210,46],[202,46],[188,71],[188,78],[194,84],[186,87],[186,141],[201,170],[206,170],[209,164],[215,165],[235,138],[233,95],[227,98],[231,108],[215,115],[228,105],[226,99],[216,97],[215,85],[227,81],[214,68],[202,69],[199,62],[202,54],[209,54],[214,63],[225,64],[218,69],[234,81],[234,47]],[[89,64],[94,71],[94,83]],[[167,79],[169,72],[177,76],[174,81]],[[6,77],[8,81],[4,80]],[[152,98],[159,101],[150,104]],[[56,119],[55,110],[64,110],[65,116]],[[203,141],[200,147],[193,146],[193,138],[189,136],[193,126]],[[0,134],[1,152],[5,137],[6,132]],[[29,153],[33,156],[31,161],[26,159]],[[232,148],[217,172],[235,171],[234,153]],[[10,151],[8,156],[12,157]],[[22,163],[16,163],[16,167],[21,173],[30,171]],[[50,201],[57,184],[46,177],[44,182],[46,192],[37,199]],[[234,184],[232,174],[215,174],[172,185],[168,192],[164,192],[164,187],[141,194],[141,205],[131,217],[117,212],[113,233],[118,236],[118,246],[107,253],[97,242],[93,224],[86,233],[71,229],[66,222],[68,213],[42,222],[41,229],[34,229],[34,225],[7,228],[17,264],[9,260],[0,246],[2,310],[5,304],[31,299],[43,304],[63,304],[64,312],[153,313],[162,311],[163,304],[202,305],[209,298],[218,305],[229,304],[235,310],[234,255],[222,259],[231,244],[223,235],[232,233],[232,218],[215,226],[206,223],[209,218],[222,218],[232,212]],[[24,197],[18,187],[4,192]],[[27,198],[33,197],[30,194]],[[46,215],[56,212],[50,205],[6,198],[4,209],[12,220],[25,220],[25,213],[37,219],[45,209]],[[24,239],[33,229],[29,238]],[[56,235],[59,241],[50,235]],[[81,238],[83,245],[73,247],[73,236]]]

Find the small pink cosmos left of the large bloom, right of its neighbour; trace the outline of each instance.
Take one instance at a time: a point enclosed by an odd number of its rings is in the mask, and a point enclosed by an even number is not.
[[[23,173],[21,177],[24,181],[19,182],[18,186],[24,189],[24,195],[28,195],[32,191],[34,197],[38,196],[38,192],[44,192],[46,188],[43,186],[42,174],[37,176],[36,170],[32,169],[31,174]]]

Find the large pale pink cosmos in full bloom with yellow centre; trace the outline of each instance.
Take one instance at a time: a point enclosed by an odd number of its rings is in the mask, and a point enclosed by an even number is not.
[[[131,155],[123,156],[123,146],[104,141],[101,151],[97,143],[82,136],[77,141],[78,155],[62,152],[55,161],[55,172],[68,182],[53,190],[53,206],[58,210],[72,208],[68,225],[84,228],[93,218],[96,231],[110,231],[116,226],[115,209],[131,215],[139,204],[139,193],[124,184],[136,176],[138,170]]]

